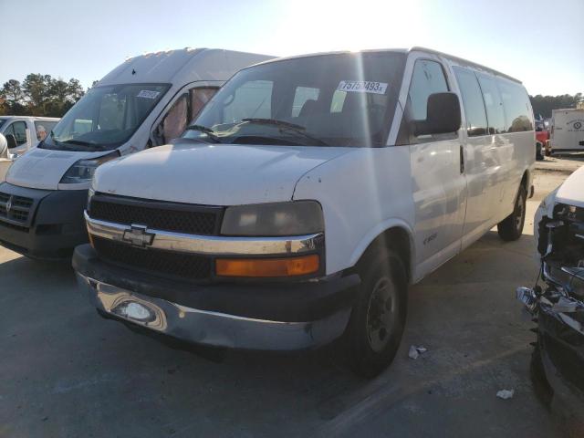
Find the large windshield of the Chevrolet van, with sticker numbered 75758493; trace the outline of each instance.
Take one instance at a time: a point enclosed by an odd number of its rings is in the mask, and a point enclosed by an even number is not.
[[[183,138],[231,144],[381,146],[405,54],[291,58],[246,68],[205,106]]]

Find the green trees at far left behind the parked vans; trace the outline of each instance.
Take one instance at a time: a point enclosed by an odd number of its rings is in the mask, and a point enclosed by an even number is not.
[[[30,73],[0,89],[0,115],[61,117],[85,94],[78,79]]]

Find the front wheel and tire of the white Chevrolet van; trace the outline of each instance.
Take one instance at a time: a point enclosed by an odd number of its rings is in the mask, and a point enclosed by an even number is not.
[[[371,379],[385,370],[398,348],[407,313],[407,277],[393,251],[374,256],[362,271],[360,297],[345,333],[349,364]]]

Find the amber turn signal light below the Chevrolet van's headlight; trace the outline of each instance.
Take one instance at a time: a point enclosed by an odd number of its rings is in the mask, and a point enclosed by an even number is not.
[[[288,258],[218,258],[217,276],[306,276],[318,271],[318,255]]]

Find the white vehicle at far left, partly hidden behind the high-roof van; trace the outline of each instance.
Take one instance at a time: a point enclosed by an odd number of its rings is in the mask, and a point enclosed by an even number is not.
[[[0,134],[8,141],[10,153],[20,155],[45,140],[58,120],[55,117],[0,116]]]

